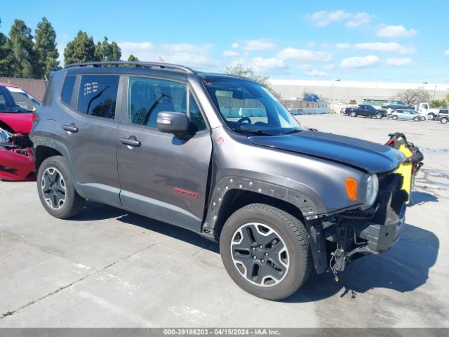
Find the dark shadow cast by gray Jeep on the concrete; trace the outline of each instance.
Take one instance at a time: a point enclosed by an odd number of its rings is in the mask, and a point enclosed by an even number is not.
[[[159,232],[214,253],[220,253],[218,244],[210,242],[199,234],[103,204],[88,202],[83,213],[73,220],[107,218],[117,218],[123,223]],[[335,282],[330,272],[321,275],[312,272],[306,284],[285,302],[313,302],[340,292],[340,297],[351,296],[355,299],[358,293],[375,288],[407,292],[422,286],[427,282],[429,269],[438,256],[438,237],[433,232],[413,225],[404,226],[401,239],[386,253],[380,256],[364,256],[355,260],[344,272],[340,273],[340,282]]]

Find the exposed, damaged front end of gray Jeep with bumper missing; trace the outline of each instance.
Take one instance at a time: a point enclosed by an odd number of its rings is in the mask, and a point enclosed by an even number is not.
[[[380,183],[375,204],[364,211],[335,215],[324,231],[330,252],[329,267],[335,274],[356,258],[389,250],[401,236],[408,194],[401,190],[402,176],[391,173]]]

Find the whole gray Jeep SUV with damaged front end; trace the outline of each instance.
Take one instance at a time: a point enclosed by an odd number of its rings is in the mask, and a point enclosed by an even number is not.
[[[404,223],[401,152],[309,131],[241,77],[69,65],[51,74],[31,138],[48,213],[72,218],[89,199],[192,230],[261,298],[290,296],[311,270],[337,278]]]

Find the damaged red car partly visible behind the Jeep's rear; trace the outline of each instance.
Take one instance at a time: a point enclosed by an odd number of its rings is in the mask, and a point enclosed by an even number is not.
[[[0,83],[0,179],[35,180],[32,142],[34,110],[41,103],[13,84]]]

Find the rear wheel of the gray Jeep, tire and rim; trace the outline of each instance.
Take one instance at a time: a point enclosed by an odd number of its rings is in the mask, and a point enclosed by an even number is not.
[[[42,162],[37,172],[37,192],[43,208],[55,218],[77,216],[86,202],[76,192],[69,166],[62,156],[49,157]]]

